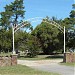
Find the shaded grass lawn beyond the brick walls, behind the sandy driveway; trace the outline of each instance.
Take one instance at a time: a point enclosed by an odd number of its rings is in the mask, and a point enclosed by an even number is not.
[[[10,56],[12,52],[1,53],[0,56]],[[20,60],[49,60],[49,59],[63,59],[63,55],[38,55],[34,58],[25,57],[24,54],[21,54],[18,58]]]

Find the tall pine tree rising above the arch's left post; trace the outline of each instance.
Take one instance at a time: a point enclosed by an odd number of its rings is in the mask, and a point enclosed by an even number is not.
[[[19,23],[24,18],[23,0],[15,0],[4,7],[5,11],[1,12],[0,25],[8,27],[10,23]]]

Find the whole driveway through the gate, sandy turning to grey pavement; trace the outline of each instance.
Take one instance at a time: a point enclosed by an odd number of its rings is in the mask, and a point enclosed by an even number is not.
[[[47,72],[55,72],[61,75],[75,75],[74,67],[59,65],[62,60],[40,60],[40,61],[28,61],[18,60],[18,64],[26,65],[31,68],[43,70]]]

